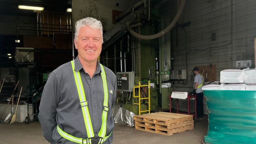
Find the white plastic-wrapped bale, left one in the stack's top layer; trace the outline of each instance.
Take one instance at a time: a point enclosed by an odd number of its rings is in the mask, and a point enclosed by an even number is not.
[[[223,70],[221,71],[221,83],[235,84],[244,83],[242,70]]]

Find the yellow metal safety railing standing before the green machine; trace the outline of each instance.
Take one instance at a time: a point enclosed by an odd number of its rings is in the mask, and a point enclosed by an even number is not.
[[[148,87],[148,97],[145,97],[145,98],[140,97],[140,88],[141,87]],[[139,95],[135,95],[135,89],[139,89]],[[150,113],[150,83],[149,83],[149,81],[148,81],[148,85],[140,85],[140,82],[139,82],[138,86],[134,86],[133,87],[133,97],[134,98],[139,97],[139,103],[134,103],[135,105],[139,105],[139,114],[143,113],[143,112]],[[148,103],[148,110],[146,110],[146,111],[140,111],[140,100],[142,100],[142,99],[148,99],[148,102],[146,102],[146,103]]]

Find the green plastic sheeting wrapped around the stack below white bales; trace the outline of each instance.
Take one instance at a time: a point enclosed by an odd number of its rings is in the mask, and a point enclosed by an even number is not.
[[[256,144],[256,91],[203,91],[209,110],[205,143]]]

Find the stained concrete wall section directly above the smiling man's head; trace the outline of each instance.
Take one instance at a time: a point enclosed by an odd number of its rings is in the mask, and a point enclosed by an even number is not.
[[[109,30],[115,26],[112,24],[112,10],[126,10],[131,7],[130,3],[131,0],[73,0],[74,24],[79,19],[94,17],[101,21],[104,30]]]

